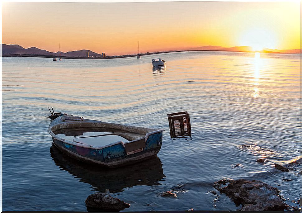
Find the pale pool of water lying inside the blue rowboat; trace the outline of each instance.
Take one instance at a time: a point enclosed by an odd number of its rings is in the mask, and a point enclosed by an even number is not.
[[[58,137],[68,140],[77,142],[80,144],[89,144],[93,146],[105,146],[117,141],[128,142],[125,137],[119,134],[125,134],[123,132],[116,132],[116,131],[102,131],[98,129],[66,129],[66,130],[58,130],[55,131]]]

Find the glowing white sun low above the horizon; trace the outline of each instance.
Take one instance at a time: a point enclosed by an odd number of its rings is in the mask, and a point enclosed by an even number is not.
[[[276,48],[276,35],[268,29],[249,29],[243,31],[239,41],[242,46],[250,46],[253,51],[261,51],[264,48]]]

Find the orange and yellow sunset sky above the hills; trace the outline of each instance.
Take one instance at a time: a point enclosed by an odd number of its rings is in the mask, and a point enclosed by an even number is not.
[[[204,45],[300,49],[300,2],[3,2],[2,43],[108,55]]]

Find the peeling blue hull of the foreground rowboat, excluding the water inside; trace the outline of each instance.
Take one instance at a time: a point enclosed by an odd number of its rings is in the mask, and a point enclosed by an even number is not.
[[[147,129],[101,121],[69,120],[60,116],[50,123],[49,133],[53,144],[68,156],[87,163],[96,163],[105,167],[120,167],[149,159],[158,154],[163,139],[164,130]],[[72,128],[110,128],[121,130],[123,137],[130,139],[127,142],[116,141],[103,146],[83,144],[75,140],[66,140],[55,134],[56,131],[67,131]],[[139,135],[143,135],[140,137]],[[89,137],[86,137],[89,138]],[[133,139],[133,140],[131,140]]]

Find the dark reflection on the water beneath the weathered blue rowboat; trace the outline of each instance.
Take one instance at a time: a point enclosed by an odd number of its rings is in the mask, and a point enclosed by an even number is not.
[[[109,190],[116,193],[127,187],[160,185],[160,181],[166,177],[163,174],[163,164],[157,156],[137,164],[110,169],[70,158],[54,145],[50,147],[50,156],[59,168],[68,171],[81,182],[90,184],[99,192]]]

